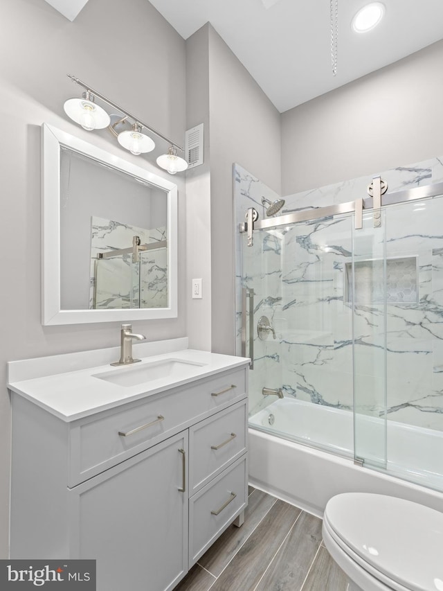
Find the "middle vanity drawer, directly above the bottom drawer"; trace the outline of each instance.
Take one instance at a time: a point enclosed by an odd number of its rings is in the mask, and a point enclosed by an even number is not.
[[[247,401],[190,427],[190,495],[246,452]]]

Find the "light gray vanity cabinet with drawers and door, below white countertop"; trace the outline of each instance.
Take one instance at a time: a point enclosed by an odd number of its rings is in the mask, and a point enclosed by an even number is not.
[[[73,421],[12,391],[11,558],[172,590],[247,504],[246,367]]]

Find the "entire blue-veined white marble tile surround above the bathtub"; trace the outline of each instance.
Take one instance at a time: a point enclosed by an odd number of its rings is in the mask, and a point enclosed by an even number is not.
[[[280,196],[241,166],[235,165],[234,174],[237,224],[250,206],[263,219],[262,197]],[[388,170],[381,177],[388,191],[440,182],[442,159]],[[366,197],[371,181],[361,177],[287,195],[281,213]],[[349,410],[355,392],[356,407],[365,414],[379,416],[387,407],[388,420],[443,430],[443,197],[384,209],[380,229],[374,229],[371,213],[364,218],[359,231],[353,229],[352,215],[257,231],[252,248],[242,247],[245,235],[237,233],[237,352],[244,287],[255,292],[255,324],[266,315],[276,333],[275,339],[269,335],[262,341],[254,327],[251,412],[271,402],[262,396],[264,386]],[[365,267],[365,282],[374,286],[370,290],[360,279],[356,294],[365,290],[367,296],[356,298],[365,301],[355,301],[354,314],[348,301],[352,256],[357,267]],[[383,265],[370,263],[385,256],[390,261],[388,303],[374,294],[386,279]],[[407,281],[393,271],[401,259],[408,261]],[[415,293],[407,301],[402,290],[414,277]]]

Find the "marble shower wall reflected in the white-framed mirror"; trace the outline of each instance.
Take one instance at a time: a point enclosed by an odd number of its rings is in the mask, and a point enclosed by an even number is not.
[[[90,308],[165,308],[168,306],[168,249],[98,260],[100,252],[132,247],[133,236],[141,244],[166,240],[166,229],[138,228],[114,220],[91,218]]]

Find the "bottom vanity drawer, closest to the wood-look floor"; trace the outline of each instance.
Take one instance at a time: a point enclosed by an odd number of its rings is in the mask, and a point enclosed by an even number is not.
[[[189,500],[189,567],[247,505],[246,455]]]

